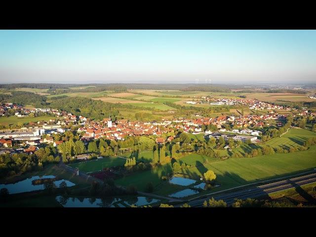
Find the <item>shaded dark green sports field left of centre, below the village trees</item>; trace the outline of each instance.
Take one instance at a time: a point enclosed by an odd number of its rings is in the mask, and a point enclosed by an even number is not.
[[[103,159],[89,160],[80,163],[68,164],[71,167],[79,168],[82,172],[96,172],[102,170],[102,168],[110,168],[113,166],[123,166],[126,159],[119,157],[105,157]]]

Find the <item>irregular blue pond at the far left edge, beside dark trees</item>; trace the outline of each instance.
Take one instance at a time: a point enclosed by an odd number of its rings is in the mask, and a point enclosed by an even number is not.
[[[19,194],[19,193],[36,191],[36,190],[43,190],[44,189],[43,184],[33,185],[32,181],[37,180],[37,179],[53,179],[55,177],[56,176],[54,175],[33,176],[32,178],[27,178],[22,181],[16,182],[14,184],[0,184],[0,189],[6,188],[10,194]],[[65,179],[56,180],[54,181],[54,184],[56,185],[56,187],[59,187],[59,184],[63,181],[66,182],[67,187],[72,187],[75,185],[74,183]]]

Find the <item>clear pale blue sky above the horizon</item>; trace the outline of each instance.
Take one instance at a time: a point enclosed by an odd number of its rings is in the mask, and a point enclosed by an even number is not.
[[[0,30],[0,83],[316,82],[315,30]]]

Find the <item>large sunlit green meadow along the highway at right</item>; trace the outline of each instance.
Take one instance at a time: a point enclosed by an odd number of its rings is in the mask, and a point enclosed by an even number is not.
[[[254,158],[229,158],[187,169],[185,173],[197,177],[211,169],[217,175],[216,180],[222,188],[231,188],[315,168],[315,152],[316,146],[312,146],[309,150],[301,152]]]

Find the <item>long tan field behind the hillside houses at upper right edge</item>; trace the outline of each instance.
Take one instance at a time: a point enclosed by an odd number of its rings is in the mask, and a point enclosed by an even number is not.
[[[244,93],[247,99],[258,99],[261,101],[268,101],[268,102],[277,102],[277,101],[306,101],[311,102],[314,101],[313,99],[308,98],[306,95],[303,94],[292,94],[292,93]]]

